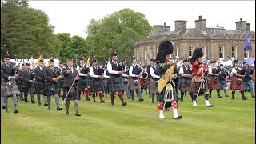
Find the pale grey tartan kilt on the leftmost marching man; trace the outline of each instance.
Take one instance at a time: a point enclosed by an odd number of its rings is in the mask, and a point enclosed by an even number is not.
[[[21,94],[18,90],[18,86],[16,85],[16,82],[14,81],[14,86],[10,89],[7,87],[7,82],[2,82],[2,88],[1,88],[1,96],[2,97],[12,97],[14,94]]]

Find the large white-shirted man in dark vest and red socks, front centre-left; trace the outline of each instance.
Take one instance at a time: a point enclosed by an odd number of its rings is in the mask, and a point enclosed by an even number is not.
[[[126,106],[127,103],[123,100],[123,86],[121,75],[124,73],[124,65],[120,65],[118,62],[118,54],[116,54],[115,50],[112,50],[111,60],[107,63],[107,70],[110,73],[110,79],[108,82],[108,87],[110,90],[111,97],[111,106],[114,106],[114,93],[118,92],[118,97],[122,102],[122,106]]]

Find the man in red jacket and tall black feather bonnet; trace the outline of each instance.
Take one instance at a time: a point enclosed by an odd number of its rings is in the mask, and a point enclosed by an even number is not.
[[[190,58],[190,63],[192,64],[193,68],[193,78],[190,85],[190,92],[193,95],[193,106],[197,105],[197,98],[198,95],[205,95],[206,107],[213,107],[212,104],[209,102],[209,91],[208,91],[208,81],[206,79],[206,70],[208,70],[205,63],[205,60],[202,59],[203,53],[202,48],[197,48],[194,50],[192,57]]]

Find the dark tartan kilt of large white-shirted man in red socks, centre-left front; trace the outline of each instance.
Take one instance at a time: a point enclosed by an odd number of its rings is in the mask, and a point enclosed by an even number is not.
[[[110,76],[109,84],[108,84],[108,90],[111,92],[120,92],[124,90],[122,78],[118,77],[120,82],[115,82],[115,77]]]

